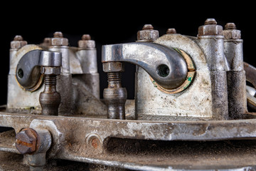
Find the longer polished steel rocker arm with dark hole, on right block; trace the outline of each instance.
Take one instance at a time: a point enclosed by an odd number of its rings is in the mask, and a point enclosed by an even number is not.
[[[186,80],[186,61],[173,48],[159,43],[123,43],[102,46],[102,63],[134,63],[164,88],[173,89]]]

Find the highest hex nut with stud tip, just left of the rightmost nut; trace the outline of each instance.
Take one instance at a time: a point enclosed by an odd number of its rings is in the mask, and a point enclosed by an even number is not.
[[[223,26],[217,25],[215,19],[206,19],[198,28],[198,36],[223,36]]]

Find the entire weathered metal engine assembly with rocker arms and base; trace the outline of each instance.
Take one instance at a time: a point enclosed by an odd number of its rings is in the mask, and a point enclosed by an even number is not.
[[[243,62],[235,24],[206,19],[197,36],[159,36],[146,24],[137,41],[102,46],[104,99],[95,41],[85,34],[68,45],[61,32],[39,45],[11,42],[0,126],[13,130],[0,133],[1,152],[30,170],[67,160],[63,170],[255,170],[256,70]],[[136,65],[132,100],[127,62]]]

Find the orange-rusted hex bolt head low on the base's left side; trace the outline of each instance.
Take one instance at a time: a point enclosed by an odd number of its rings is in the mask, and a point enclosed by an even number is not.
[[[16,148],[22,155],[36,152],[38,134],[36,130],[24,128],[16,135]]]

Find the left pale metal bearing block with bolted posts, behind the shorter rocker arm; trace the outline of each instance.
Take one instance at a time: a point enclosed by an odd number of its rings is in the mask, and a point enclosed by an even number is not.
[[[90,42],[94,41],[90,40]],[[80,46],[85,45],[86,43],[84,45],[80,43]],[[41,53],[42,51],[43,53]],[[74,113],[79,113],[81,115],[104,115],[107,113],[105,104],[99,98],[100,78],[97,73],[97,63],[95,62],[97,61],[97,56],[94,43],[90,43],[90,45],[84,48],[69,47],[68,38],[63,38],[63,33],[58,31],[54,33],[53,38],[45,38],[44,42],[40,45],[29,44],[20,48],[11,48],[7,110],[10,112],[41,113],[41,104],[38,99],[41,92],[43,92],[43,75],[41,74],[38,60],[45,55],[46,51],[52,54],[57,54],[58,52],[62,56],[60,76],[56,80],[56,90],[61,96],[58,114],[73,115]],[[27,60],[30,58],[29,56],[35,58]],[[50,58],[45,62],[50,62],[49,60]],[[21,85],[19,83],[21,81],[19,81],[18,70],[16,69],[18,61],[21,61],[20,64],[23,66],[26,64],[27,70],[28,68],[33,68],[33,72],[28,71],[28,73],[32,73],[31,76],[33,78],[27,76],[28,81],[31,83],[23,81],[28,84],[28,88],[24,88],[23,86],[21,86],[22,88],[18,88]],[[57,63],[58,61],[51,62]],[[34,67],[35,65],[36,67]],[[24,76],[22,80],[24,78],[26,77]],[[85,101],[88,102],[87,99],[90,99],[90,103],[85,104]],[[97,103],[97,105],[92,105],[93,103]]]

